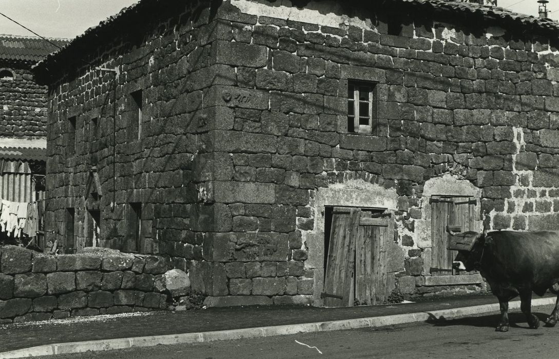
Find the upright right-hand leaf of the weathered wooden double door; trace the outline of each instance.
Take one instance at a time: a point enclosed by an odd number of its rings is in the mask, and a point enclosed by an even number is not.
[[[386,301],[386,248],[394,238],[390,217],[361,212],[356,243],[356,304],[375,305]]]

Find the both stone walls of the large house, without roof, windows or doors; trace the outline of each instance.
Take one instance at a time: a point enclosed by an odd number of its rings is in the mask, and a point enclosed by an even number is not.
[[[363,198],[394,213],[389,290],[483,290],[479,275],[429,273],[423,192],[439,177],[450,184],[429,196],[461,195],[459,181],[477,189],[476,228],[557,226],[556,44],[495,23],[476,22],[472,33],[460,16],[312,6],[320,11],[232,0],[192,30],[163,23],[169,31],[142,46],[107,44],[92,63],[120,71],[114,182],[110,135],[94,151],[78,134],[79,156],[66,160],[59,125],[78,115],[79,129],[85,113],[110,129],[115,110],[103,95],[112,74],[84,70],[58,84],[49,132],[54,238],[63,238],[64,207],[83,221],[93,159],[100,244],[125,250],[125,203],[145,203],[146,252],[190,270],[210,305],[320,304],[324,206],[369,207]],[[378,84],[380,136],[347,133],[348,79]],[[146,138],[126,143],[125,94],[139,88]],[[345,192],[319,200],[336,187]]]

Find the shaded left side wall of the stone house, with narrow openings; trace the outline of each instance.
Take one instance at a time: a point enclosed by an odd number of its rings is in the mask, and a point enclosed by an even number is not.
[[[217,76],[219,66],[208,61],[209,9],[196,2],[175,5],[169,5],[162,22],[148,17],[136,27],[116,31],[113,42],[79,59],[78,69],[69,69],[51,85],[45,221],[50,241],[64,246],[65,208],[75,208],[74,250],[86,245],[91,226],[86,191],[96,167],[102,189],[98,203],[92,204],[101,211],[96,245],[131,251],[132,231],[125,218],[127,203],[135,202],[142,203],[140,252],[172,255],[176,267],[185,271],[191,260],[202,258],[202,241],[191,221],[198,212],[192,159],[202,151],[198,133],[207,131],[215,117],[212,108],[202,109],[202,92],[224,80]],[[140,140],[129,130],[130,93],[136,90],[143,91]],[[75,152],[68,154],[72,116]],[[91,132],[93,118],[98,121],[97,138]],[[90,189],[97,192],[94,181]]]

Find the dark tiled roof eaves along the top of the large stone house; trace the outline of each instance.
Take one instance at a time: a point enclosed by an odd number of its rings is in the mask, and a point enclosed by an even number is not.
[[[184,0],[174,1],[186,3]],[[268,1],[274,2],[275,0]],[[338,1],[347,2],[347,0]],[[361,6],[364,6],[363,3],[358,0],[352,1],[356,1]],[[83,51],[84,46],[91,46],[92,44],[100,41],[100,39],[105,36],[109,36],[107,37],[107,41],[108,39],[113,37],[113,32],[108,30],[112,26],[126,24],[129,21],[133,22],[135,16],[139,14],[146,15],[145,13],[149,14],[150,12],[153,13],[154,11],[157,11],[158,8],[164,8],[164,3],[168,4],[169,2],[173,2],[173,0],[140,0],[139,2],[136,2],[129,7],[125,7],[116,15],[113,15],[111,17],[108,17],[106,20],[101,21],[99,25],[88,28],[84,33],[82,33],[82,35],[75,37],[75,39],[70,41],[69,44],[64,46],[62,49],[49,54],[44,60],[41,60],[34,67],[39,71],[49,71],[48,69],[53,69],[57,66],[65,66],[67,65],[67,63],[65,63],[63,59],[66,56],[79,56],[80,53]],[[296,1],[293,0],[292,2]],[[299,0],[297,2],[306,3],[307,1]],[[472,18],[475,18],[476,21],[479,20],[479,18],[481,17],[496,23],[507,23],[509,24],[509,26],[513,25],[514,27],[526,27],[527,30],[528,28],[532,30],[540,29],[543,31],[551,32],[553,34],[552,36],[555,37],[559,34],[559,22],[550,19],[542,19],[534,16],[515,13],[502,7],[480,5],[477,3],[448,0],[383,0],[380,4],[375,3],[374,6],[400,8],[404,5],[415,6],[418,9],[427,12],[439,12],[448,14],[455,13],[461,15],[464,18],[472,16]],[[84,43],[87,45],[84,45]]]

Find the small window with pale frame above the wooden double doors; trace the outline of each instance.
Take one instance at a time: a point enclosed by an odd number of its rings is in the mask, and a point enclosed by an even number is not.
[[[376,83],[348,82],[348,132],[378,136],[378,87]]]

